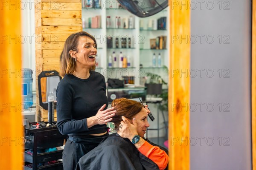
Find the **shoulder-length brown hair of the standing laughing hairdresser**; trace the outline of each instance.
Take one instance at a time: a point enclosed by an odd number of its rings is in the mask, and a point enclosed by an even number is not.
[[[61,53],[60,75],[62,77],[64,77],[65,74],[72,74],[75,71],[75,59],[71,57],[69,51],[73,50],[73,51],[78,52],[77,45],[78,45],[79,37],[82,37],[82,36],[87,36],[87,37],[91,38],[94,41],[94,43],[96,44],[96,48],[97,48],[96,40],[91,34],[85,32],[85,31],[71,34],[65,41],[64,48]],[[94,71],[95,66],[90,68],[90,70]]]

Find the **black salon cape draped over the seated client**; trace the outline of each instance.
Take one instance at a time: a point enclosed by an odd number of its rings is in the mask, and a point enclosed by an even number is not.
[[[151,159],[141,154],[129,139],[113,133],[105,137],[99,146],[82,156],[76,170],[159,170],[159,168]]]

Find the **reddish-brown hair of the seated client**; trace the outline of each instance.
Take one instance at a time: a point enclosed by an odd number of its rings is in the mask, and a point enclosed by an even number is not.
[[[116,115],[112,117],[112,122],[115,124],[116,130],[119,129],[122,116],[132,119],[143,108],[143,105],[140,102],[125,98],[114,99],[111,106],[116,108]]]

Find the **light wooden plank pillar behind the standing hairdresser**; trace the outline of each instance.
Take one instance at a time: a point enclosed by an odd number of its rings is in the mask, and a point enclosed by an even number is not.
[[[59,72],[65,40],[70,34],[82,31],[81,8],[81,0],[35,0],[36,75],[41,71]],[[47,121],[47,110],[39,106],[38,83],[36,103],[36,121]]]

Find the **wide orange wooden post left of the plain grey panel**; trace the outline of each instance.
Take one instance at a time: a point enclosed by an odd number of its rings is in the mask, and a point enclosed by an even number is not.
[[[189,4],[189,0],[183,0]],[[187,1],[187,2],[185,2]],[[170,0],[170,71],[169,71],[169,169],[189,170],[189,99],[190,78],[175,70],[185,72],[190,68],[190,44],[177,37],[190,36],[190,9]],[[173,5],[175,4],[176,5]],[[175,38],[174,38],[175,37]]]

